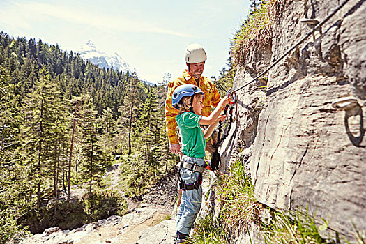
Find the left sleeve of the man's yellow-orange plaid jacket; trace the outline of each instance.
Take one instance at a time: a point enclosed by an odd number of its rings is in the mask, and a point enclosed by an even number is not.
[[[170,144],[178,143],[178,137],[176,136],[176,116],[178,115],[179,111],[174,109],[174,107],[171,105],[173,91],[178,86],[179,82],[176,82],[175,80],[169,82],[167,99],[165,100],[165,123],[167,125],[166,130]]]

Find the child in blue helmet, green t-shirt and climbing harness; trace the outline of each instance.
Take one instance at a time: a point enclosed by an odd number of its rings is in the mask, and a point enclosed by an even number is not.
[[[176,243],[185,243],[197,213],[201,208],[202,200],[202,172],[206,167],[204,162],[206,139],[215,126],[226,115],[220,115],[229,98],[225,96],[210,116],[202,116],[202,98],[204,92],[192,84],[178,86],[173,93],[172,105],[179,109],[176,123],[181,132],[183,156],[178,164],[179,188],[183,190],[181,204],[178,208],[176,229]],[[202,130],[200,125],[210,125]]]

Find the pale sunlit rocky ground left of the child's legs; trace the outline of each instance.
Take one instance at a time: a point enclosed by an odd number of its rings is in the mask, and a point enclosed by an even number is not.
[[[119,190],[119,174],[119,165],[114,165],[107,172],[110,189]],[[73,230],[52,227],[42,234],[29,236],[22,244],[174,243],[175,220],[171,216],[174,215],[172,211],[176,201],[175,175],[172,172],[162,178],[142,197],[142,201],[128,199],[128,214],[122,217],[110,216]],[[77,197],[76,189],[73,195]]]

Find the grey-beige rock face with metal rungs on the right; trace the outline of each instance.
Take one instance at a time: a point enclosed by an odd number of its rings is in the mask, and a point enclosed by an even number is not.
[[[234,87],[250,81],[310,31],[301,18],[323,20],[339,4],[286,2],[275,21],[272,49],[253,50]],[[258,83],[239,91],[235,126],[220,149],[226,162],[222,172],[244,156],[261,203],[284,210],[309,206],[319,223],[328,219],[329,227],[349,240],[355,233],[352,222],[358,231],[366,229],[365,11],[365,0],[346,3],[270,70],[265,96]],[[332,107],[344,97],[357,103]]]

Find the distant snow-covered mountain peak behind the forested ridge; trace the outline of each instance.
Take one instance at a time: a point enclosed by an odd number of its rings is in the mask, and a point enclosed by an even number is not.
[[[134,70],[128,63],[126,63],[119,54],[116,52],[112,55],[108,55],[105,52],[101,52],[96,49],[96,45],[93,40],[89,40],[86,44],[82,45],[77,51],[83,59],[91,61],[91,63],[96,64],[100,68],[114,68],[114,70],[119,70],[123,73],[130,72]]]

